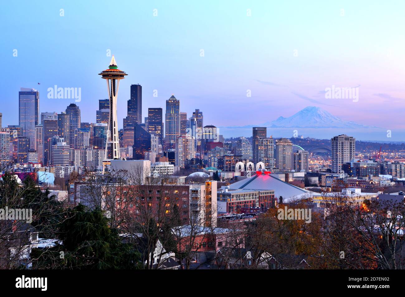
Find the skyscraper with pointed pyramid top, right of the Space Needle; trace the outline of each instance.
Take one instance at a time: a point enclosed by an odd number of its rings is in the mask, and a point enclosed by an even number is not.
[[[165,148],[175,148],[176,139],[180,136],[180,101],[173,94],[166,100],[165,125]]]

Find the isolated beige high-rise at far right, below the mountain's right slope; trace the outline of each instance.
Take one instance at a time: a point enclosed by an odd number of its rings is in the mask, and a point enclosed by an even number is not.
[[[342,165],[356,156],[356,139],[345,134],[330,139],[332,148],[332,172],[343,172]]]

